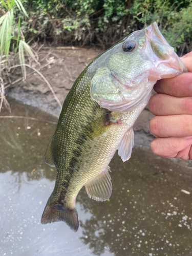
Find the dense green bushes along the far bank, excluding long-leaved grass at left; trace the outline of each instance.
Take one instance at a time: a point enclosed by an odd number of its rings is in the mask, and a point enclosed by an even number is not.
[[[54,44],[97,44],[106,48],[156,20],[179,55],[192,49],[192,0],[23,0],[22,3],[29,19],[17,16],[28,40],[39,38]]]

